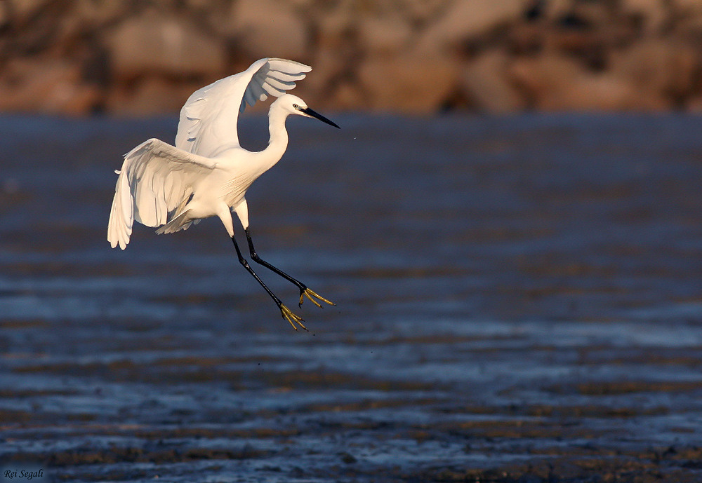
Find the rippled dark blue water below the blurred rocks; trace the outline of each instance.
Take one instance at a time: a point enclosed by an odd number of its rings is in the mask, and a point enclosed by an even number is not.
[[[110,249],[121,155],[175,120],[0,117],[0,463],[585,482],[635,462],[698,481],[702,118],[330,117],[343,129],[291,119],[247,195],[263,259],[337,304],[298,308],[257,268],[309,333],[216,219]]]

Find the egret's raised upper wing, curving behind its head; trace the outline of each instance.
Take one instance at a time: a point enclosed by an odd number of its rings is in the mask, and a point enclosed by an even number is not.
[[[239,146],[237,121],[246,104],[283,95],[311,70],[293,60],[260,59],[244,72],[196,90],[180,109],[176,147],[213,157],[223,147]]]

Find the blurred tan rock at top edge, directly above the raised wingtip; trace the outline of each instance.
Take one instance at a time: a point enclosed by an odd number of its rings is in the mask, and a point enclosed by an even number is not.
[[[239,0],[232,7],[231,34],[252,60],[283,57],[305,62],[307,25],[284,2]]]

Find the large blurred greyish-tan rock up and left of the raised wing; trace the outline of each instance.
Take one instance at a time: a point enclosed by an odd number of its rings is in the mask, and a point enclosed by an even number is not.
[[[127,81],[150,73],[214,78],[226,62],[222,41],[158,11],[117,26],[107,45],[112,73]]]

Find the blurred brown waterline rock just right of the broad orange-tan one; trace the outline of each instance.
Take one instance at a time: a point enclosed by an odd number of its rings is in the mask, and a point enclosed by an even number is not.
[[[501,50],[491,50],[463,68],[461,86],[471,106],[498,114],[527,107],[508,79],[509,62],[510,58]]]

